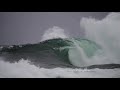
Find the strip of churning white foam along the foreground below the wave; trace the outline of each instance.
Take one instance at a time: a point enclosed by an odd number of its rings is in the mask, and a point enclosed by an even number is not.
[[[27,60],[9,63],[0,60],[0,78],[118,78],[120,69],[45,69],[31,65]]]

